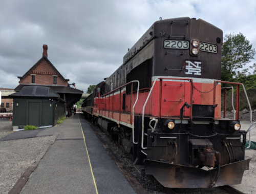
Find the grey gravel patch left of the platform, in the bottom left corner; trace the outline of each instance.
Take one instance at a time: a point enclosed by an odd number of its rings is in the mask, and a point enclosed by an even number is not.
[[[0,191],[7,194],[52,136],[0,142]]]

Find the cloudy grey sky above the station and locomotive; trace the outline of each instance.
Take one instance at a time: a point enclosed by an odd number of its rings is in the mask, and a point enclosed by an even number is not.
[[[256,48],[256,1],[1,0],[0,87],[15,88],[42,56],[86,91],[108,77],[159,17],[196,17],[242,32]],[[254,56],[256,58],[256,56]],[[256,62],[256,60],[252,60]]]

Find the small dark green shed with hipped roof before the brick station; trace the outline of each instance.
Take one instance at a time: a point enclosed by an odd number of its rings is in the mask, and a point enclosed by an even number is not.
[[[65,101],[51,88],[27,86],[9,96],[13,98],[13,130],[25,125],[54,126],[65,116]]]

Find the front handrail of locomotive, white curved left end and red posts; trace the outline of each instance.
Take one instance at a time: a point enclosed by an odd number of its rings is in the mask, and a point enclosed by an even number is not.
[[[153,83],[153,85],[152,85],[152,87],[151,87],[151,89],[150,89],[150,93],[148,93],[148,95],[147,95],[147,98],[146,98],[146,101],[145,101],[145,103],[144,103],[144,105],[143,105],[143,109],[142,109],[142,135],[141,135],[141,148],[142,149],[146,149],[146,147],[144,147],[143,146],[143,144],[144,144],[144,112],[145,112],[145,106],[146,106],[146,104],[147,104],[147,101],[148,101],[148,99],[150,98],[150,95],[151,95],[151,93],[152,93],[152,91],[153,91],[153,88],[154,88],[154,86],[155,86],[155,84],[156,84],[156,81],[157,80],[160,80],[160,96],[159,96],[159,118],[161,117],[161,101],[162,101],[162,81],[163,81],[163,79],[170,79],[170,80],[189,80],[190,81],[190,84],[191,84],[191,95],[190,95],[190,103],[192,104],[192,102],[193,102],[193,98],[192,98],[192,96],[193,96],[193,79],[191,79],[191,78],[163,78],[163,77],[157,77],[156,79],[155,79],[155,81],[154,81],[154,83]],[[191,114],[190,114],[190,117],[192,117],[192,109],[191,109]]]

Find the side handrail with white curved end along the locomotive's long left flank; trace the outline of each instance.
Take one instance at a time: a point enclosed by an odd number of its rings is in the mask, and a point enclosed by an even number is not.
[[[133,105],[133,109],[132,109],[132,101],[133,101],[133,83],[134,82],[137,82],[138,83],[138,86],[137,86],[137,97],[136,97],[136,101],[134,102],[134,105]],[[114,117],[114,92],[117,91],[117,90],[120,90],[120,104],[119,104],[119,122],[121,121],[121,94],[122,94],[122,88],[125,87],[126,85],[128,84],[132,84],[131,86],[131,116],[130,116],[130,122],[132,124],[132,132],[133,132],[133,143],[134,144],[138,144],[138,142],[135,142],[135,139],[134,139],[134,109],[135,109],[135,105],[137,104],[137,101],[138,101],[138,98],[139,98],[139,88],[140,88],[140,82],[138,80],[134,80],[134,81],[130,81],[128,83],[125,83],[124,85],[122,85],[121,87],[119,88],[116,88],[115,90],[112,90],[111,92],[108,92],[104,95],[101,95],[99,96],[99,98],[102,98],[102,97],[105,97],[107,95],[109,95],[110,97],[110,94],[112,93],[112,118]],[[110,100],[109,100],[109,103],[110,103]],[[104,111],[104,114],[106,113],[106,111]],[[109,114],[110,114],[110,109],[109,109]],[[109,115],[110,117],[110,115]]]

